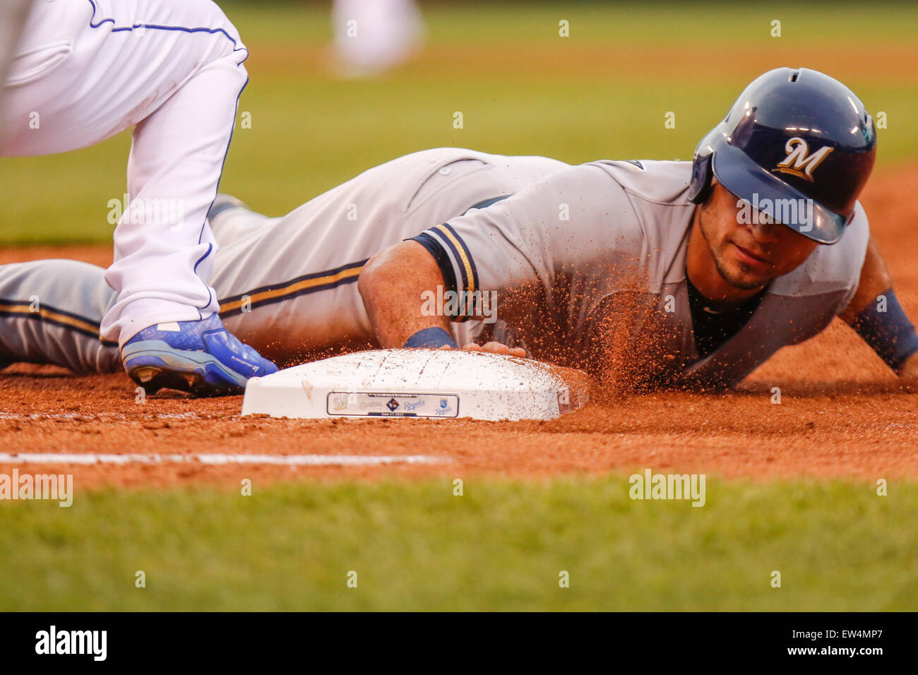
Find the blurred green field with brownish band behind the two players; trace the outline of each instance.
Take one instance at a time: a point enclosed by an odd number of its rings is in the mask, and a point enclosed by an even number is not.
[[[427,56],[374,82],[330,76],[324,4],[222,5],[250,48],[252,77],[241,99],[252,129],[237,129],[222,188],[272,215],[436,146],[571,163],[689,159],[749,79],[788,64],[823,67],[888,113],[881,166],[918,152],[918,77],[901,65],[918,60],[914,5],[437,4],[424,8]],[[775,18],[779,39],[769,36]],[[485,65],[474,58],[482,50],[496,50]],[[871,67],[833,69],[834,50]],[[464,129],[453,129],[457,110]],[[664,129],[666,111],[676,129]],[[0,160],[0,245],[109,241],[107,203],[124,192],[128,150],[125,133],[84,151]]]

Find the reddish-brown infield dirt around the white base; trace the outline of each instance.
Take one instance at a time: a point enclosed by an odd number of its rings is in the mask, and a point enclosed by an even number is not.
[[[871,231],[918,317],[914,265],[918,167],[878,170],[862,197]],[[0,263],[69,257],[106,265],[107,245],[0,252]],[[62,280],[63,283],[66,280]],[[772,388],[780,388],[780,404]],[[705,472],[724,478],[918,477],[918,394],[866,344],[835,321],[785,348],[727,394],[682,392],[591,403],[554,422],[297,421],[242,418],[241,397],[136,401],[123,374],[76,377],[56,366],[0,373],[0,444],[5,453],[273,454],[431,456],[385,467],[205,466],[196,463],[73,466],[81,487],[239,484],[262,479]],[[60,471],[28,465],[29,471]],[[0,472],[12,467],[0,464]],[[22,466],[20,465],[20,469]]]

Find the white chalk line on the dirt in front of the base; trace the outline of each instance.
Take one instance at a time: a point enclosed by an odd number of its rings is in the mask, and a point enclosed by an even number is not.
[[[383,464],[438,464],[445,457],[426,455],[96,455],[0,453],[0,464],[266,464],[281,467],[375,467]]]

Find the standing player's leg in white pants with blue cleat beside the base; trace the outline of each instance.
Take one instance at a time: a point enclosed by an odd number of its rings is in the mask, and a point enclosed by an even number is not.
[[[105,275],[115,292],[94,321],[150,388],[228,393],[276,370],[226,331],[207,285],[207,210],[247,56],[210,0],[45,0],[8,62],[0,155],[68,152],[134,128],[129,206]]]

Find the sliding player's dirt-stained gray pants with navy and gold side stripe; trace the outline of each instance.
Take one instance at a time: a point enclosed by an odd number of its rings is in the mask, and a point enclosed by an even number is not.
[[[357,290],[368,258],[568,164],[438,148],[375,166],[283,218],[231,209],[211,223],[219,250],[208,282],[229,331],[279,364],[375,346]],[[98,322],[113,301],[104,270],[74,261],[0,266],[0,365],[116,370]],[[470,342],[481,323],[456,324]]]

